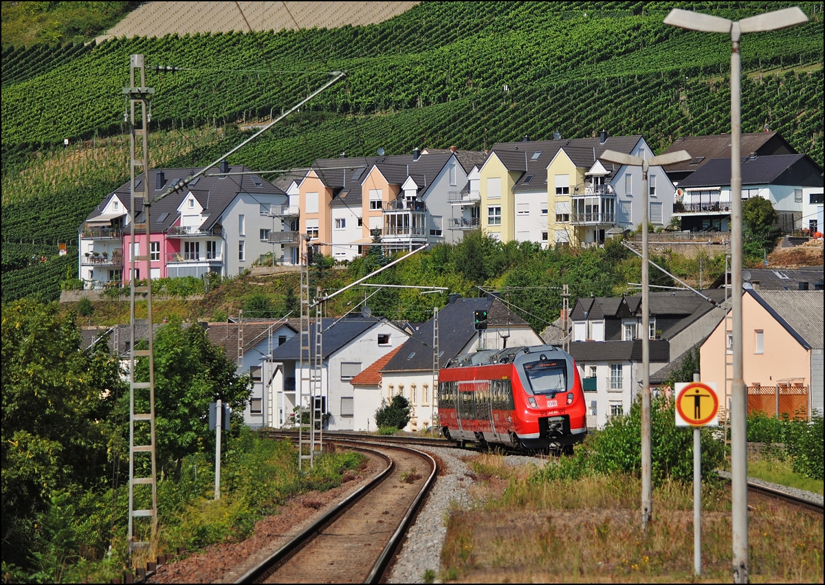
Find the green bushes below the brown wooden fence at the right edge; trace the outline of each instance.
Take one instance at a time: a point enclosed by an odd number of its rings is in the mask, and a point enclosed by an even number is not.
[[[757,443],[782,443],[793,459],[795,473],[823,479],[823,415],[814,413],[810,422],[768,417],[761,411],[747,415],[747,440]]]

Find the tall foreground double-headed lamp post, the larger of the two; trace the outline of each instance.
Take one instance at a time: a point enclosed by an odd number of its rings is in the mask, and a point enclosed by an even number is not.
[[[731,384],[731,511],[733,525],[733,582],[747,583],[747,394],[742,372],[742,71],[739,40],[743,32],[775,31],[808,21],[799,7],[766,12],[756,17],[729,21],[727,18],[674,8],[666,25],[690,31],[730,35],[730,199],[731,199],[731,292],[733,294],[733,384]],[[725,405],[726,408],[728,405]]]

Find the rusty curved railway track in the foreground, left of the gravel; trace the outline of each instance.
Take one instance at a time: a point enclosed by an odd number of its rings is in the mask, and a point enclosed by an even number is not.
[[[384,577],[436,478],[436,461],[406,446],[331,442],[373,453],[387,467],[235,583],[379,583]]]

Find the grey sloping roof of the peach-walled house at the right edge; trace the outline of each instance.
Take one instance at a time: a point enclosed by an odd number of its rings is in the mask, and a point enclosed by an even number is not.
[[[822,290],[746,290],[803,346],[823,349]]]

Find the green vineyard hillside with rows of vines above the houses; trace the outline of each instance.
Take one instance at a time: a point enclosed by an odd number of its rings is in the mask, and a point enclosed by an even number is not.
[[[125,158],[120,167],[95,167],[96,177],[105,177],[94,181],[84,180],[83,172],[68,184],[21,172],[44,155],[59,158],[54,151],[64,138],[101,144],[125,131],[120,87],[131,53],[146,54],[148,64],[187,69],[149,73],[148,84],[157,88],[152,130],[225,130],[217,143],[164,157],[167,166],[217,158],[241,138],[233,124],[280,113],[333,70],[346,70],[347,80],[231,162],[283,168],[342,151],[481,149],[525,134],[545,139],[558,130],[577,138],[602,128],[643,134],[661,151],[683,135],[729,131],[729,39],[663,25],[675,5],[425,2],[373,26],[111,40],[31,78],[13,64],[7,71],[4,54],[3,240],[71,242],[89,210],[125,182]],[[740,19],[793,4],[678,5]],[[770,124],[822,164],[822,5],[799,6],[810,17],[807,24],[746,35],[742,42],[742,131]],[[4,283],[18,278],[16,270],[6,271],[16,266],[12,260],[4,254]],[[59,294],[58,281],[43,283],[41,292],[44,287]],[[25,294],[26,287],[14,290]],[[9,298],[4,293],[3,300]]]

